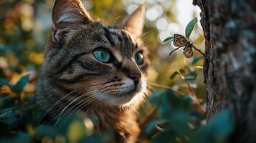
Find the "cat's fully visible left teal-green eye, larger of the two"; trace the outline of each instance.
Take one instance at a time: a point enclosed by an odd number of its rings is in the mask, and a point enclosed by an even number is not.
[[[95,59],[103,63],[108,63],[110,61],[110,52],[108,51],[108,49],[96,49],[95,51],[93,51],[93,55]]]

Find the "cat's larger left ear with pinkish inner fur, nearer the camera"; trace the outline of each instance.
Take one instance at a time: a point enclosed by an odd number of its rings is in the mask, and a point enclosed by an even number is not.
[[[59,41],[80,24],[90,21],[93,20],[80,0],[55,0],[52,7],[52,39]]]

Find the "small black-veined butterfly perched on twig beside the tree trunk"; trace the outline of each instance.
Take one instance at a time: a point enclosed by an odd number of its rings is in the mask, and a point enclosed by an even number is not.
[[[174,46],[178,46],[178,48],[171,51],[171,53],[185,46],[185,48],[183,49],[183,54],[186,58],[191,58],[193,56],[193,48],[196,49],[196,47],[193,45],[193,42],[187,40],[184,36],[180,34],[174,34]],[[196,49],[196,51],[199,51],[204,56],[202,51],[200,51],[199,49]],[[171,55],[171,53],[169,55]]]

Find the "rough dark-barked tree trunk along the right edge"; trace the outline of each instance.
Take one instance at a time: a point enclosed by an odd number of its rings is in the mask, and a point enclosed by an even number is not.
[[[256,1],[194,0],[206,39],[207,120],[232,109],[229,142],[256,142]]]

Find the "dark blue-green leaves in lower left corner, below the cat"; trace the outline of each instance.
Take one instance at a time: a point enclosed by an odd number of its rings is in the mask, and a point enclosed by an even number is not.
[[[40,142],[44,139],[55,142],[107,142],[112,137],[104,132],[99,137],[99,134],[87,131],[83,118],[79,115],[61,122],[58,126],[42,124],[40,119],[44,112],[34,102],[34,97],[22,98],[28,81],[29,75],[21,77],[15,85],[1,80],[1,84],[11,87],[11,92],[16,97],[0,97],[0,142]],[[108,136],[105,137],[106,135]]]

